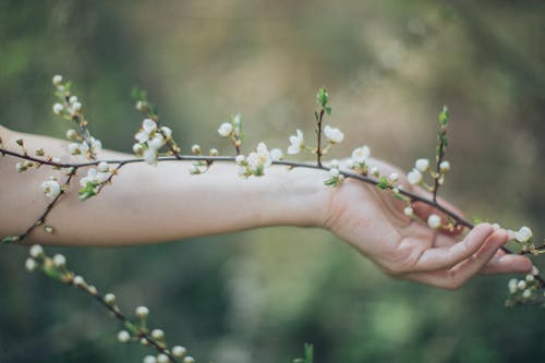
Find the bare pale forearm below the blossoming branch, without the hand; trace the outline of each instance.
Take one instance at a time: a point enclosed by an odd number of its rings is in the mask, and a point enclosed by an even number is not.
[[[65,144],[58,140],[10,133],[5,146],[16,148],[14,140],[25,140],[29,150],[45,147],[52,155],[68,158]],[[131,158],[105,152],[99,157]],[[1,233],[17,234],[32,225],[49,202],[40,183],[50,176],[64,177],[49,167],[25,173],[15,171],[13,157],[0,159],[2,172]],[[215,164],[202,176],[191,176],[189,164],[161,162],[124,166],[113,183],[84,203],[77,198],[78,182],[48,216],[53,234],[36,229],[28,241],[68,245],[122,245],[152,243],[187,237],[222,233],[263,226],[319,223],[328,192],[324,176],[314,170],[267,170],[264,178],[244,180],[234,166]],[[78,170],[78,178],[85,169]],[[13,191],[13,193],[9,193]],[[11,206],[11,207],[5,207]]]

